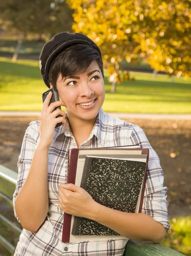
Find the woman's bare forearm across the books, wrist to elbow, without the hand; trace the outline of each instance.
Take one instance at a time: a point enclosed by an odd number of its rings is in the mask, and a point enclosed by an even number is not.
[[[129,239],[153,243],[160,243],[164,239],[165,227],[144,213],[121,212],[98,203],[95,205],[94,212],[94,216],[90,216],[92,220]]]

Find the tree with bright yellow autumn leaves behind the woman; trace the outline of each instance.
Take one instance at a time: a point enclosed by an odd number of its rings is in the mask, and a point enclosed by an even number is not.
[[[129,79],[128,74],[119,72],[124,59],[135,64],[147,58],[156,71],[191,75],[190,0],[68,0],[67,3],[74,10],[72,28],[100,47],[113,81]]]

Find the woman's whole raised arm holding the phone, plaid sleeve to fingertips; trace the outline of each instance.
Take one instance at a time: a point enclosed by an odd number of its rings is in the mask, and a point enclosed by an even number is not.
[[[53,111],[56,107],[64,105],[64,102],[56,101],[49,105],[51,95],[49,93],[43,103],[38,127],[29,127],[31,136],[27,132],[25,134],[19,159],[22,168],[19,169],[19,179],[14,193],[17,220],[20,220],[26,230],[32,232],[41,226],[49,208],[48,152],[55,125],[58,122],[66,124],[66,113],[60,109]],[[56,118],[59,114],[62,117]],[[38,134],[38,143],[33,138],[35,134]]]

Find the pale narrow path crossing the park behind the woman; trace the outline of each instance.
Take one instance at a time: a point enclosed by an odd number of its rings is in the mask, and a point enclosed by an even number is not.
[[[191,114],[157,114],[157,113],[117,113],[107,112],[109,115],[120,119],[178,119],[191,120]],[[0,111],[0,116],[40,116],[40,111]]]

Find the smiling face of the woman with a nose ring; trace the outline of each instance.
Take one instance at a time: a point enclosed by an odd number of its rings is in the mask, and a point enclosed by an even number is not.
[[[96,118],[105,98],[104,79],[96,61],[83,74],[63,79],[59,74],[56,85],[69,118]]]

